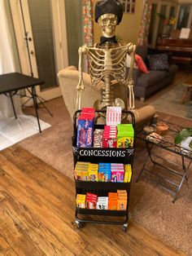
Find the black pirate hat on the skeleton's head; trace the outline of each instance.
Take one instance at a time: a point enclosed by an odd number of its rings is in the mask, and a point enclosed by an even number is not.
[[[120,21],[123,17],[123,5],[120,0],[103,0],[96,2],[94,9],[94,20],[98,22],[98,18],[101,15],[111,13],[117,16],[117,24],[120,24]]]

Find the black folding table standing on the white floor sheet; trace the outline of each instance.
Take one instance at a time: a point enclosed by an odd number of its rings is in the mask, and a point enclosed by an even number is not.
[[[43,83],[44,82],[41,79],[26,76],[22,73],[6,73],[6,74],[0,75],[0,95],[3,94],[3,95],[6,95],[7,97],[10,97],[15,118],[17,118],[17,116],[15,113],[15,106],[13,103],[12,96],[16,95],[18,90],[31,88],[31,90],[28,90],[28,92],[32,95],[32,98],[33,98],[33,104],[35,107],[37,123],[38,123],[40,132],[41,132],[41,126],[40,126],[39,116],[37,111],[38,105],[37,105],[37,94],[36,94],[35,86],[41,85]]]

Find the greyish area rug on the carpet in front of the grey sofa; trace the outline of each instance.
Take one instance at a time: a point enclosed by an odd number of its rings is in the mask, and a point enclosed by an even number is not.
[[[185,86],[180,83],[160,96],[159,99],[151,102],[151,105],[155,107],[156,111],[192,120],[192,100],[185,104],[180,103],[185,90]]]

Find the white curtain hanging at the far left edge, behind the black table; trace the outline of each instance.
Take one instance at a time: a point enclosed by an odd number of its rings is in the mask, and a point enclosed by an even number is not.
[[[7,14],[4,0],[0,0],[0,75],[3,73],[11,73],[15,71],[15,61],[12,52],[11,34],[7,21]],[[21,114],[20,98],[14,96],[15,110],[17,114]],[[13,117],[13,109],[11,99],[5,95],[0,95],[0,120],[7,117]]]

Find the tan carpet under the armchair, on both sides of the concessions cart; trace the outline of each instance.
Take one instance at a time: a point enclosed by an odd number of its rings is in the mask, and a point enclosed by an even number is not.
[[[40,110],[40,115],[43,120],[51,124],[50,129],[24,139],[20,142],[20,146],[73,179],[72,120],[62,98],[51,100],[47,103],[47,107],[54,117],[50,117],[46,112],[43,113],[43,109]],[[177,121],[182,126],[192,125],[192,121],[184,118],[176,119],[166,114],[160,117],[171,122]],[[172,160],[181,159],[177,157]],[[190,169],[188,182],[183,184],[181,193],[173,204],[172,196],[155,183],[145,179],[145,174],[138,183],[135,182],[145,161],[145,143],[138,141],[133,166],[129,216],[168,245],[192,255],[192,170]]]

